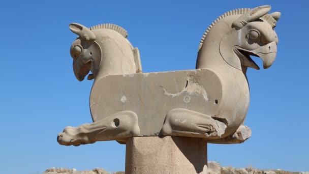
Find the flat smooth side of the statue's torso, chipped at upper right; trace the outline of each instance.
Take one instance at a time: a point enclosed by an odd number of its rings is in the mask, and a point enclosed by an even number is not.
[[[221,85],[219,77],[211,70],[106,76],[92,87],[91,115],[96,122],[119,111],[130,110],[138,117],[141,135],[157,136],[172,109],[218,115]],[[218,104],[214,104],[215,100]],[[180,119],[179,122],[186,121]]]

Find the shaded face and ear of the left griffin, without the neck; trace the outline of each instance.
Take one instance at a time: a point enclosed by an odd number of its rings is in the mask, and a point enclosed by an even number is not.
[[[97,36],[89,28],[78,23],[71,23],[69,27],[73,33],[79,36],[70,48],[75,77],[82,81],[91,71],[92,74],[89,74],[87,79],[94,79],[102,57],[100,45],[96,41]]]

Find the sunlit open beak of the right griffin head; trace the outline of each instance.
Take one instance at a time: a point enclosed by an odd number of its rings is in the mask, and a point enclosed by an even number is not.
[[[239,56],[241,64],[246,67],[251,67],[259,70],[260,67],[251,59],[251,55],[260,57],[263,60],[263,68],[269,68],[276,57],[277,45],[276,42],[271,42],[267,45],[261,46],[255,50],[246,50],[240,47],[235,48],[236,54]]]

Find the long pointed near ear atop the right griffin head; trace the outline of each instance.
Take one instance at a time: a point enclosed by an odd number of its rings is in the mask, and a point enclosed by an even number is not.
[[[250,11],[244,13],[239,18],[237,18],[233,22],[232,28],[235,27],[237,30],[242,28],[248,22],[257,20],[258,18],[267,14],[270,11],[270,8],[271,8],[270,6],[260,6],[260,7],[251,9]]]

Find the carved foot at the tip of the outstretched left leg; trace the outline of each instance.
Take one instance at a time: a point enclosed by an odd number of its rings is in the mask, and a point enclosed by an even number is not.
[[[57,141],[64,146],[79,146],[80,144],[94,143],[88,140],[84,128],[68,126],[57,135]]]

